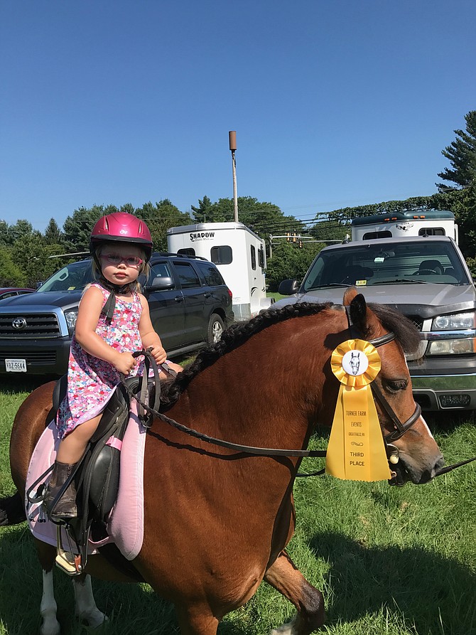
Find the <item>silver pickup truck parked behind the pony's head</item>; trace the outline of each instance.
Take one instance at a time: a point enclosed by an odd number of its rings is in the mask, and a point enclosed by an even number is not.
[[[476,409],[476,291],[458,245],[446,236],[383,238],[325,247],[302,284],[281,282],[290,302],[342,302],[355,285],[367,302],[409,317],[421,331],[407,359],[423,410]]]

